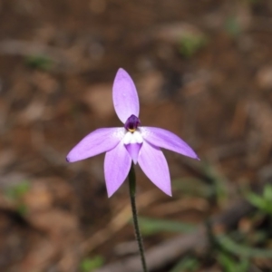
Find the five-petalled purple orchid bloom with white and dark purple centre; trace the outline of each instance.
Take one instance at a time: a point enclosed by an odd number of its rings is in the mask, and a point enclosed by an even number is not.
[[[104,172],[108,197],[119,189],[131,169],[131,160],[163,192],[171,196],[170,172],[160,148],[199,159],[189,145],[170,131],[142,127],[139,98],[128,73],[119,69],[113,83],[115,112],[124,124],[91,132],[67,156],[67,161],[84,160],[106,152]]]

